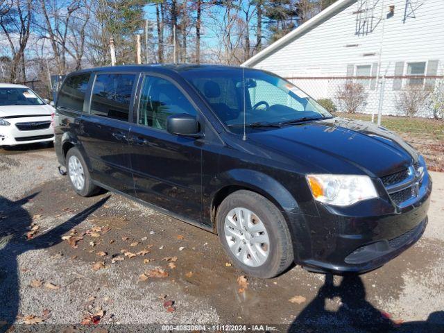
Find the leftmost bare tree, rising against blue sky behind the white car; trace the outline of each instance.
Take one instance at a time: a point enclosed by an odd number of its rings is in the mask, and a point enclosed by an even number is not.
[[[19,65],[22,65],[22,79],[26,80],[24,51],[31,34],[31,18],[31,0],[10,0],[0,3],[0,26],[10,45],[9,80],[12,83],[17,81]]]

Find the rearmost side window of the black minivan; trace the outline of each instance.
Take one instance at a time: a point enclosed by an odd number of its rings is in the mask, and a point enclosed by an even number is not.
[[[57,106],[82,112],[90,75],[87,73],[69,76],[58,93]]]

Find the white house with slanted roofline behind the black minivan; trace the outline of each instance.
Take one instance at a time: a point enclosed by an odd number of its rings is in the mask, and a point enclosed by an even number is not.
[[[338,106],[344,83],[360,83],[361,112],[403,114],[399,101],[409,89],[423,96],[444,89],[444,1],[339,0],[243,65]],[[416,115],[432,117],[430,94]]]

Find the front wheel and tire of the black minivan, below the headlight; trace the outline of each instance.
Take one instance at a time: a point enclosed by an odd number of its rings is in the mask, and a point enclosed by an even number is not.
[[[242,216],[240,225],[252,216],[247,229],[239,230],[237,214]],[[246,190],[230,194],[219,205],[216,223],[225,253],[248,275],[273,278],[292,264],[293,245],[287,223],[278,207],[264,196]]]

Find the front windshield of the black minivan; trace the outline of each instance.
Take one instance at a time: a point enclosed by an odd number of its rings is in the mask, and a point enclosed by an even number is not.
[[[180,73],[229,127],[280,124],[332,117],[287,80],[265,71],[226,67]],[[244,114],[245,110],[245,114]],[[244,119],[245,117],[245,119]]]

